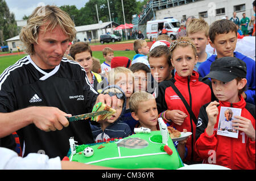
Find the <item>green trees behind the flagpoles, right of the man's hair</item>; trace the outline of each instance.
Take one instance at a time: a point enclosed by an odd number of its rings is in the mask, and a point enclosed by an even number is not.
[[[132,15],[138,14],[142,10],[143,5],[146,3],[147,0],[123,0],[126,23],[131,23]],[[118,24],[123,24],[123,9],[121,0],[109,0],[110,8],[108,8],[108,0],[89,0],[80,10],[78,10],[75,5],[60,6],[60,8],[65,12],[68,12],[76,26],[83,26],[86,24],[98,23],[96,5],[99,20],[102,20],[102,22],[109,22],[110,9],[112,21]]]

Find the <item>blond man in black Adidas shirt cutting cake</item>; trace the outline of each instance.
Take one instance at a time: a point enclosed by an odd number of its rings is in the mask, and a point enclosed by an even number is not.
[[[1,75],[0,117],[10,114],[0,121],[0,138],[11,140],[9,135],[17,131],[23,156],[44,153],[62,159],[71,136],[79,144],[93,142],[88,121],[69,124],[67,117],[91,112],[98,102],[116,105],[116,99],[93,90],[77,62],[63,58],[75,35],[66,12],[56,6],[37,7],[20,32],[28,56]]]

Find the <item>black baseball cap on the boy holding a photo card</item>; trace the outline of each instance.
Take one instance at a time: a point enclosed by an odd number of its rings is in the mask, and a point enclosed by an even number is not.
[[[214,78],[222,82],[230,82],[233,79],[246,78],[246,64],[236,57],[221,57],[212,62],[210,73],[204,77]]]

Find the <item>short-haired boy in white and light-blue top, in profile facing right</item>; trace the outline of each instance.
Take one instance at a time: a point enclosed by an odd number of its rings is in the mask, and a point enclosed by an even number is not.
[[[141,62],[149,67],[150,65],[148,64],[147,54],[149,53],[150,48],[147,46],[147,41],[142,39],[135,40],[133,43],[133,49],[137,54],[133,57],[131,64]]]

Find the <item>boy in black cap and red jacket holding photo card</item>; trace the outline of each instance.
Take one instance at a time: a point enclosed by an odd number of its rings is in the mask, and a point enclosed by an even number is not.
[[[196,127],[196,153],[208,163],[230,169],[255,169],[255,105],[245,102],[246,64],[236,57],[222,57],[210,66],[212,89],[218,101],[200,109]],[[241,108],[234,116],[238,138],[217,135],[221,107]]]

